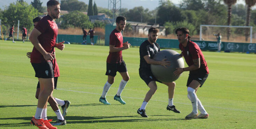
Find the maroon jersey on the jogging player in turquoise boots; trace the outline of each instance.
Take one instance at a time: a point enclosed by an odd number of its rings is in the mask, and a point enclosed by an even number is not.
[[[115,47],[123,47],[122,33],[114,29],[109,36],[109,45],[115,45]],[[109,52],[107,63],[120,63],[122,60],[122,51]]]

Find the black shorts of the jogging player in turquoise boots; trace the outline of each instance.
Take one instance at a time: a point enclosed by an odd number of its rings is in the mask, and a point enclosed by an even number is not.
[[[105,75],[116,76],[116,72],[127,72],[126,64],[124,61],[121,63],[107,63],[107,71]]]

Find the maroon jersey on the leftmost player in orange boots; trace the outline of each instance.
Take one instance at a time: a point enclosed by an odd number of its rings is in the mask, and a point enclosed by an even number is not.
[[[58,35],[57,24],[49,15],[47,15],[38,22],[38,24],[35,26],[35,29],[41,32],[41,35],[38,36],[38,40],[43,49],[45,49],[45,51],[48,53],[53,53]],[[43,58],[43,55],[38,50],[36,50],[35,47],[33,47],[33,51],[30,56],[30,62],[41,63],[46,62],[46,60]]]

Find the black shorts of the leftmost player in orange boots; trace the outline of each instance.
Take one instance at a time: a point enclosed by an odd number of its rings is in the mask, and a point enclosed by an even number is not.
[[[35,77],[38,78],[53,78],[53,64],[52,62],[31,63],[35,70]]]

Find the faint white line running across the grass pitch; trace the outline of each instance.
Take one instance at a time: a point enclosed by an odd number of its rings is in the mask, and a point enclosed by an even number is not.
[[[80,89],[80,88],[78,88],[78,89]],[[58,88],[58,90],[101,95],[100,93],[83,92],[83,91],[75,91],[75,90],[66,90],[66,89],[61,89],[61,88]],[[107,96],[114,96],[114,95],[107,95]],[[122,96],[122,98],[130,98],[130,99],[141,99],[141,100],[144,100],[144,98],[134,98],[134,97],[125,97],[125,96]],[[166,101],[153,100],[153,99],[152,99],[151,101],[166,102]],[[178,102],[175,102],[175,103],[178,103]],[[178,103],[178,104],[191,105],[191,104],[188,104],[188,103]],[[249,111],[249,110],[242,110],[242,109],[232,109],[232,108],[223,108],[223,107],[215,107],[215,106],[205,106],[205,105],[203,105],[203,106],[204,106],[204,107],[211,107],[211,108],[220,108],[220,109],[234,110],[234,111],[256,112],[256,111]]]

